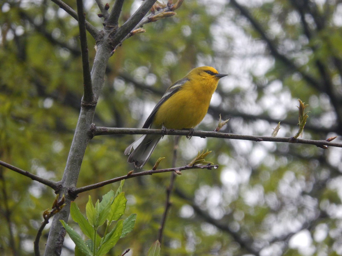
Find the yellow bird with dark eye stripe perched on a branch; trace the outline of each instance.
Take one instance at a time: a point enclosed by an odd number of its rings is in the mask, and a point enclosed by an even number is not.
[[[213,67],[194,68],[166,90],[143,128],[193,131],[207,114],[219,79],[226,75],[219,74]],[[161,135],[145,134],[134,141],[124,151],[129,155],[134,148],[127,162],[134,163],[136,168],[143,167],[161,138]]]

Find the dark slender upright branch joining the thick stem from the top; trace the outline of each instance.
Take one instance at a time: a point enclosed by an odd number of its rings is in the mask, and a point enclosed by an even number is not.
[[[87,42],[87,32],[86,32],[86,14],[84,13],[84,9],[83,9],[83,1],[76,0],[76,2],[77,2],[78,27],[80,30],[80,43],[81,43],[81,53],[82,53],[82,69],[83,69],[84,96],[82,99],[82,103],[94,104],[93,103],[94,93],[93,93],[93,86],[91,83],[88,42]]]

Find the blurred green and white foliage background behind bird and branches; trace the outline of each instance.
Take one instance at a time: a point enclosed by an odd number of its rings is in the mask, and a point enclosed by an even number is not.
[[[76,10],[76,1],[65,1]],[[109,2],[110,6],[114,2]],[[121,24],[141,4],[126,0]],[[95,1],[84,1],[98,29]],[[61,179],[83,93],[78,24],[48,0],[0,3],[0,159],[47,179]],[[220,80],[207,116],[196,128],[278,137],[298,130],[300,98],[310,111],[304,139],[342,135],[342,3],[337,0],[185,0],[176,15],[144,26],[110,58],[94,123],[141,127],[166,88],[197,66]],[[89,35],[89,34],[88,34]],[[95,42],[89,35],[90,60]],[[97,136],[84,156],[78,186],[132,170],[123,151],[137,137]],[[172,162],[173,136],[149,162]],[[340,138],[335,140],[341,142]],[[162,255],[342,255],[342,150],[313,145],[181,138],[177,166],[198,150],[218,169],[177,176]],[[157,239],[170,174],[127,180],[125,215],[134,230],[110,255],[146,255]],[[101,199],[119,184],[80,194]],[[32,255],[52,189],[0,167],[0,251]],[[126,217],[127,217],[126,216]],[[76,230],[77,225],[70,220]],[[48,228],[44,230],[41,248]],[[66,236],[62,255],[73,255]]]

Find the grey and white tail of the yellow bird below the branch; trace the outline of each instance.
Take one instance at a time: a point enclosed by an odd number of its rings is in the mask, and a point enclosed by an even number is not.
[[[141,168],[145,165],[145,163],[150,158],[152,152],[157,146],[159,140],[161,139],[160,135],[148,134],[146,135],[142,142],[133,150],[130,156],[127,159],[128,163],[134,163],[136,168]],[[127,150],[132,148],[134,143],[126,148],[125,154],[127,154]],[[130,151],[129,149],[129,151]],[[129,154],[129,153],[128,153]]]

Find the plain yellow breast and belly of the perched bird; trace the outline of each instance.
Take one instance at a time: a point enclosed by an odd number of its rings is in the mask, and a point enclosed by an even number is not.
[[[165,101],[158,109],[154,128],[164,125],[167,129],[181,130],[197,126],[208,111],[212,94],[182,89]]]

